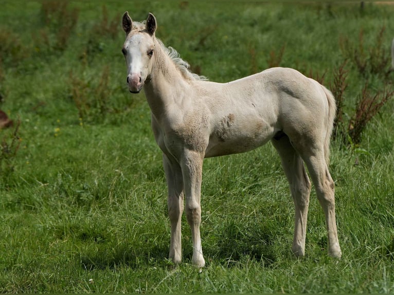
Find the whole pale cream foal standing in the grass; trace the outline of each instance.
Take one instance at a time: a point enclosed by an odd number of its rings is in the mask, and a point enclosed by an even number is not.
[[[201,247],[201,178],[207,157],[242,153],[274,144],[289,180],[295,205],[293,252],[305,253],[311,182],[324,209],[328,251],[341,257],[335,223],[334,181],[328,171],[329,144],[336,107],[332,94],[290,68],[271,68],[229,83],[205,81],[188,70],[173,48],[155,37],[156,19],[122,18],[126,41],[127,84],[131,93],[144,88],[152,129],[163,151],[171,222],[170,259],[182,260],[181,216],[193,240],[192,263],[205,265]]]

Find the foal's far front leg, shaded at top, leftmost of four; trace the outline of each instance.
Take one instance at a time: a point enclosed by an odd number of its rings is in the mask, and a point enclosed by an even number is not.
[[[169,258],[173,263],[182,261],[181,219],[183,213],[183,176],[180,165],[172,157],[163,154],[163,166],[168,187],[168,216],[171,223]]]

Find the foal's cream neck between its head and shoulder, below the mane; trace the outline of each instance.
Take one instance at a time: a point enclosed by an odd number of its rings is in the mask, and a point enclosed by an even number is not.
[[[169,108],[173,109],[173,105],[182,100],[182,94],[187,93],[190,86],[158,43],[155,54],[150,81],[145,84],[144,89],[152,114],[158,121],[162,121],[163,114],[168,113]]]

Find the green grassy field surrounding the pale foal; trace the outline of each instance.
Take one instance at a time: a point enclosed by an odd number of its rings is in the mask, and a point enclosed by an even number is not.
[[[207,159],[202,243],[207,262],[168,261],[162,154],[144,94],[130,95],[121,15],[155,14],[156,36],[211,81],[272,65],[321,77],[346,64],[342,127],[364,85],[377,93],[394,7],[249,2],[17,2],[0,9],[0,292],[394,292],[394,100],[360,142],[332,142],[330,171],[343,256],[327,255],[324,214],[312,191],[306,257],[291,253],[294,206],[268,143]],[[383,30],[384,28],[384,30]],[[380,39],[379,39],[380,38]],[[379,47],[379,40],[381,47]],[[384,51],[379,51],[380,49]],[[20,122],[19,124],[17,122]],[[17,128],[18,127],[18,128]],[[350,130],[351,130],[350,128]]]

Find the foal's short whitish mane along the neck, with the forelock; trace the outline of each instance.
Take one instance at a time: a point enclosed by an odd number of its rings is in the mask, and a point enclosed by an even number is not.
[[[133,29],[137,29],[139,31],[146,29],[146,21],[142,22],[133,22]],[[197,75],[190,71],[190,65],[187,61],[181,59],[180,54],[171,46],[166,47],[164,43],[160,40],[155,38],[157,43],[162,47],[163,51],[169,56],[169,58],[174,62],[176,67],[181,71],[182,75],[188,80],[201,80],[201,81],[208,81],[208,78],[205,76]]]

